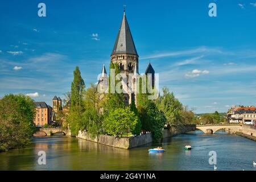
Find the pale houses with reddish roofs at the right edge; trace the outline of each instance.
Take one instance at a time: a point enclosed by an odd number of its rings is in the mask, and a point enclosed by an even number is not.
[[[256,123],[255,106],[232,106],[229,109],[226,119],[229,123]]]

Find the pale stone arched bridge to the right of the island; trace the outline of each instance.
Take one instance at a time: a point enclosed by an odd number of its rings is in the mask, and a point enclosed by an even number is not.
[[[196,129],[203,131],[206,134],[214,134],[216,131],[226,129],[230,133],[242,131],[242,124],[224,124],[224,125],[196,125]]]

